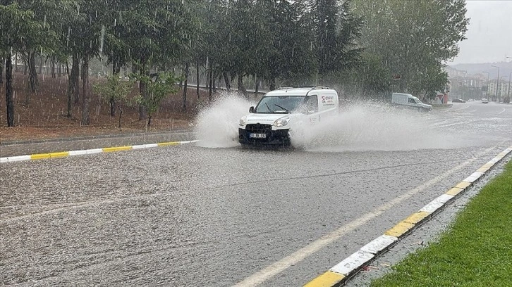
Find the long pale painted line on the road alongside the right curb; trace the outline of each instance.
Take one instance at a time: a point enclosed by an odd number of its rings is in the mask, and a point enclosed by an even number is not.
[[[496,148],[496,146],[493,146],[492,148],[487,148],[481,153],[478,153],[474,158],[471,158],[470,160],[463,162],[461,165],[457,165],[456,167],[453,167],[451,170],[448,170],[447,172],[444,172],[443,174],[440,174],[439,176],[430,179],[424,184],[421,184],[420,186],[417,186],[415,189],[412,189],[408,193],[404,193],[403,195],[394,198],[394,200],[391,200],[388,203],[384,203],[383,205],[379,206],[379,208],[377,208],[376,210],[367,212],[365,215],[362,215],[362,217],[359,217],[358,219],[355,219],[352,222],[343,225],[339,229],[336,229],[331,233],[320,237],[319,239],[317,239],[317,241],[313,241],[312,243],[305,245],[303,248],[300,248],[291,255],[288,255],[283,259],[274,262],[273,264],[270,264],[268,267],[265,267],[264,269],[260,270],[259,272],[256,272],[255,274],[252,274],[251,276],[245,278],[243,281],[236,283],[235,286],[257,286],[258,284],[261,284],[264,281],[271,279],[273,276],[276,276],[277,274],[283,272],[285,269],[288,269],[292,265],[304,260],[305,257],[316,253],[317,251],[321,250],[330,243],[333,243],[334,241],[338,240],[339,238],[341,238],[341,236],[348,234],[348,232],[353,231],[354,229],[362,226],[362,224],[369,222],[371,219],[374,219],[375,217],[382,215],[382,213],[391,210],[391,208],[394,208],[395,205],[398,205],[398,203],[407,200],[408,198],[414,196],[416,193],[419,193],[420,191],[427,189],[427,187],[437,184],[439,181],[445,179],[449,175],[458,172],[459,170],[463,169],[463,167],[477,160],[477,158],[480,158],[480,156],[489,153],[489,151],[494,150],[494,148]]]

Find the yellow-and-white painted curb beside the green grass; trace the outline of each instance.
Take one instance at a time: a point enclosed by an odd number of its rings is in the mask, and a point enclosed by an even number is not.
[[[409,234],[416,227],[426,222],[429,218],[440,212],[447,204],[451,203],[454,198],[460,196],[463,192],[473,186],[475,182],[479,181],[484,174],[486,174],[494,165],[500,162],[509,153],[512,152],[512,146],[506,148],[504,151],[496,155],[492,160],[482,165],[477,171],[470,174],[469,177],[463,179],[446,193],[441,194],[430,203],[427,203],[423,208],[413,213],[401,222],[398,222],[394,227],[391,227],[383,235],[370,241],[364,245],[360,250],[352,255],[346,257],[344,260],[334,265],[331,269],[323,274],[320,274],[312,281],[305,284],[305,287],[327,287],[327,286],[341,286],[351,276],[360,272],[360,270],[369,264],[372,260],[377,258],[382,253],[386,252],[393,245],[398,243],[398,240]]]

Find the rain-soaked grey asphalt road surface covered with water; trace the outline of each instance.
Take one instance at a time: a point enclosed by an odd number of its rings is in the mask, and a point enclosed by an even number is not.
[[[186,144],[1,164],[0,285],[302,286],[512,144],[512,105],[434,112],[460,147]]]

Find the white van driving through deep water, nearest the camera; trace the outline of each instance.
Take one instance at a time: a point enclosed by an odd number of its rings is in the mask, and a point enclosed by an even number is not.
[[[290,146],[291,129],[307,128],[338,115],[338,93],[328,87],[279,88],[269,91],[239,122],[242,146]]]

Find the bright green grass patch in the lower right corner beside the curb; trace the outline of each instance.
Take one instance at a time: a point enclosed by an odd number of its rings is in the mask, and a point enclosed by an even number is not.
[[[512,286],[512,161],[439,241],[408,255],[371,286]]]

